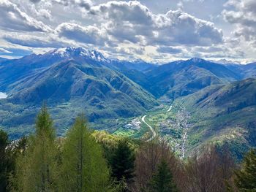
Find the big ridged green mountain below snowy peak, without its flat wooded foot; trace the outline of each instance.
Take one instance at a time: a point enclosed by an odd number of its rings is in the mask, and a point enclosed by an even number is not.
[[[41,104],[44,100],[48,104],[83,101],[85,105],[102,110],[108,105],[114,106],[118,99],[123,101],[123,107],[116,106],[115,110],[124,117],[138,115],[156,104],[150,93],[123,74],[71,60],[15,82],[8,101],[18,104]],[[111,100],[113,104],[108,103]]]

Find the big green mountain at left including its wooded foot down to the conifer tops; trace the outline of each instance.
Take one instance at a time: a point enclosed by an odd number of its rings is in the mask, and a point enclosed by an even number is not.
[[[59,134],[79,112],[85,112],[96,128],[108,129],[119,118],[141,115],[158,104],[124,74],[75,61],[54,64],[10,87],[10,97],[1,99],[1,125],[16,130],[15,135],[19,128],[20,133],[31,128],[43,101],[48,103]]]

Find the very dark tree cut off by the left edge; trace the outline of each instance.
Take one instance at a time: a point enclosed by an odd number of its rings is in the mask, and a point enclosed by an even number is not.
[[[8,177],[14,169],[12,151],[9,147],[10,141],[6,132],[0,130],[0,191],[8,190]]]

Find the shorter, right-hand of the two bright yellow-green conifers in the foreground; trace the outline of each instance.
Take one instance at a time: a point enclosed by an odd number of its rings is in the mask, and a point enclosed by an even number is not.
[[[64,139],[60,191],[108,191],[110,174],[97,144],[79,115]]]

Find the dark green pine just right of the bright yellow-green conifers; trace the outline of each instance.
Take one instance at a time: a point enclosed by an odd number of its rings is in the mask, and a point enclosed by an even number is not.
[[[113,152],[113,157],[110,161],[112,168],[112,176],[117,181],[124,180],[126,183],[132,183],[132,178],[135,176],[135,153],[129,147],[127,140],[118,142],[116,150]]]

